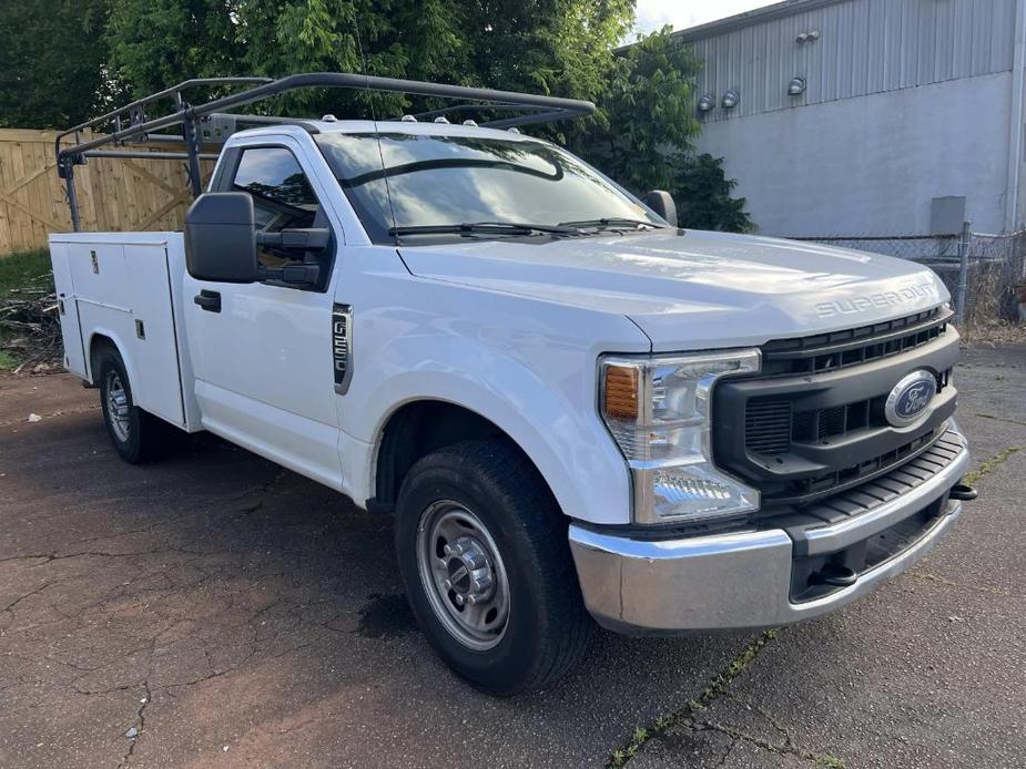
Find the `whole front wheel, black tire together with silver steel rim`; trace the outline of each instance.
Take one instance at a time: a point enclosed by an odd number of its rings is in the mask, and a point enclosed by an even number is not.
[[[592,627],[567,524],[537,470],[501,440],[421,459],[396,506],[396,548],[417,621],[441,658],[480,689],[556,680]]]

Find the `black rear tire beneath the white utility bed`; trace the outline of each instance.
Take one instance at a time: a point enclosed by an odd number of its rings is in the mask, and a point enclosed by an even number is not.
[[[159,417],[154,417],[135,406],[132,398],[132,383],[121,353],[109,345],[96,350],[93,371],[100,388],[100,406],[106,433],[118,451],[118,455],[130,464],[143,464],[161,459],[174,443],[174,428]],[[124,411],[116,419],[112,413],[111,391],[124,394]]]

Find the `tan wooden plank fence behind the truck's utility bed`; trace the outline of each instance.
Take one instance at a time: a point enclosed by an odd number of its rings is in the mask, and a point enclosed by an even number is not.
[[[0,130],[0,258],[71,230],[52,131]],[[213,164],[202,164],[204,183]],[[85,232],[181,229],[192,196],[184,161],[91,158],[75,166]]]

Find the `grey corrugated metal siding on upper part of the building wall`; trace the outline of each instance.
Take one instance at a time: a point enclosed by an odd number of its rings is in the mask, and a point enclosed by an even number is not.
[[[846,0],[697,40],[705,63],[705,120],[753,115],[946,80],[1005,72],[1014,55],[1015,0]],[[802,32],[820,39],[799,44]],[[806,91],[788,95],[804,76]],[[740,104],[719,101],[729,89]]]

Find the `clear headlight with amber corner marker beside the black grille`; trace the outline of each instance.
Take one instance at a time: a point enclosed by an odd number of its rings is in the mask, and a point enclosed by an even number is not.
[[[599,404],[631,469],[637,523],[759,509],[758,491],[713,465],[709,413],[717,380],[759,368],[759,350],[601,359]]]

